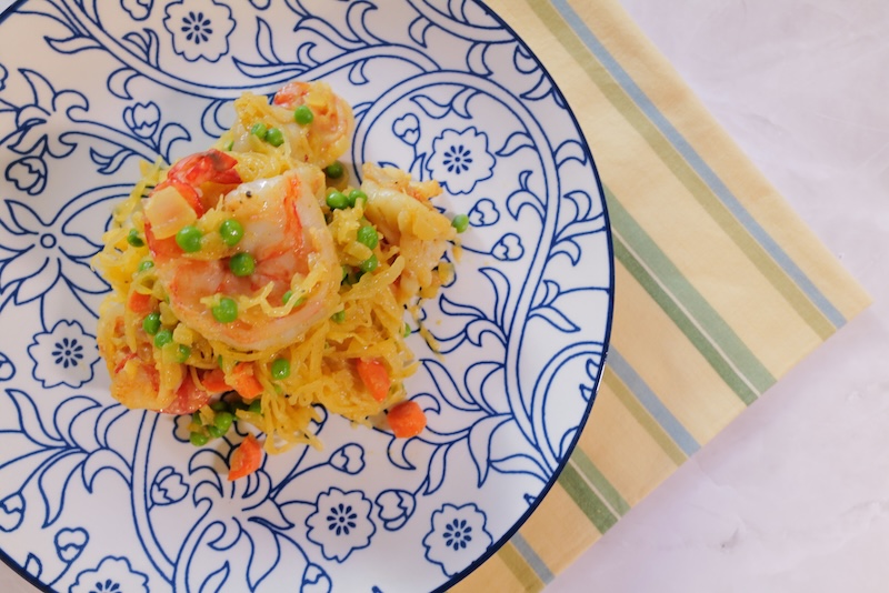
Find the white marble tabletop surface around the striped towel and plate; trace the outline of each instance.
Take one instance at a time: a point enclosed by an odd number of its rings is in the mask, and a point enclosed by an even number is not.
[[[875,304],[547,593],[888,591],[889,3],[622,1]]]

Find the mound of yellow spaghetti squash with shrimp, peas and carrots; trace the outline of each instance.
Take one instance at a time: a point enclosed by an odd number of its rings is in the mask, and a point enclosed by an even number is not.
[[[116,208],[94,259],[112,288],[100,352],[117,400],[192,414],[194,444],[241,420],[267,452],[318,445],[319,404],[358,423],[412,404],[404,312],[450,278],[461,225],[431,205],[434,181],[366,163],[348,184],[352,113],[323,82],[244,93],[234,113],[210,150],[144,163]],[[389,415],[399,436],[424,424],[419,406]]]

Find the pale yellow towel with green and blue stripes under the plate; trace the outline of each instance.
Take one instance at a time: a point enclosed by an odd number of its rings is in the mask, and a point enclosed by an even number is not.
[[[615,240],[587,429],[522,529],[456,591],[540,591],[869,302],[616,0],[490,0],[590,141]]]

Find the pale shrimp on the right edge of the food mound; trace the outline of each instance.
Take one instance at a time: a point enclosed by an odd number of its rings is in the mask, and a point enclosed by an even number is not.
[[[441,192],[436,182],[411,181],[403,171],[364,163],[361,189],[368,194],[364,215],[390,244],[401,248],[404,270],[399,281],[402,298],[436,287],[433,270],[456,237],[450,221],[430,203]]]

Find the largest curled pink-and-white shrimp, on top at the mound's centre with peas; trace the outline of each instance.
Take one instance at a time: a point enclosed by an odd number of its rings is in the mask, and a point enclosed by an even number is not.
[[[342,271],[319,207],[323,183],[318,169],[298,168],[222,195],[194,223],[206,249],[157,262],[177,318],[211,341],[251,351],[282,348],[329,316]],[[229,220],[243,229],[232,247],[219,239]],[[231,269],[237,253],[250,254],[250,273]],[[237,319],[220,321],[214,306],[221,299],[237,303]]]

